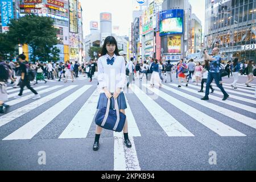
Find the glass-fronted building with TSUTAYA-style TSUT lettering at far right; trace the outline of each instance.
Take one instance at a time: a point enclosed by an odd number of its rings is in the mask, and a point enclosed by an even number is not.
[[[223,59],[256,60],[256,1],[206,0],[205,47]]]

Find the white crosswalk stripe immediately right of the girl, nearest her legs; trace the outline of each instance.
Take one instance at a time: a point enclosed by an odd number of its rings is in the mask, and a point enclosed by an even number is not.
[[[181,125],[171,114],[159,106],[152,98],[136,85],[130,85],[130,89],[142,102],[152,117],[158,122],[160,127],[166,132],[168,137],[195,137],[183,125]],[[159,113],[159,111],[161,111]]]

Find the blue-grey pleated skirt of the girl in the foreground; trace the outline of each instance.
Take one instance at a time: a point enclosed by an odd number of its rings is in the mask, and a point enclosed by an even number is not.
[[[114,97],[111,97],[110,99],[110,109],[114,109]],[[126,100],[125,100],[125,94],[123,92],[120,92],[119,96],[117,97],[117,103],[119,109],[126,109]],[[108,97],[106,97],[105,93],[100,94],[100,98],[98,99],[97,109],[101,109],[102,107],[106,107],[108,104]]]

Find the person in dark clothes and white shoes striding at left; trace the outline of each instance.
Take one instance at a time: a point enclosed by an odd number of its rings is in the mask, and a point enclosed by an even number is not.
[[[31,90],[31,92],[33,92],[35,94],[35,96],[32,99],[39,99],[41,98],[40,95],[38,94],[38,92],[36,92],[36,90],[34,90],[31,85],[30,85],[30,79],[33,77],[32,76],[32,71],[30,71],[30,67],[28,64],[28,61],[25,61],[26,56],[24,54],[19,55],[19,61],[20,61],[20,71],[21,71],[21,81],[20,81],[20,91],[18,96],[15,96],[15,99],[18,99],[22,96],[23,90],[24,90],[24,86],[27,86],[28,89]],[[35,75],[33,77],[33,79],[35,78]]]

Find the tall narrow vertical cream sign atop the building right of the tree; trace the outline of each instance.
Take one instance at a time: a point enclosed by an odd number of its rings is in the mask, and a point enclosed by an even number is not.
[[[77,0],[69,0],[69,32],[78,33]]]

